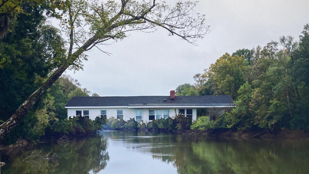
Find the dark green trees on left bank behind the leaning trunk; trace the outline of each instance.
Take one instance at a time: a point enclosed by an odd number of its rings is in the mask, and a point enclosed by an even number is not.
[[[16,20],[11,22],[11,32],[0,41],[0,57],[5,59],[0,69],[0,90],[5,91],[0,93],[2,121],[7,120],[44,82],[49,72],[57,67],[55,60],[60,61],[64,54],[59,31],[44,24],[44,6],[29,6],[25,3],[23,10],[27,10],[28,15],[19,13]],[[54,97],[45,94],[9,133],[5,142],[15,143],[19,137],[28,141],[39,140],[49,121],[56,120],[53,103]]]

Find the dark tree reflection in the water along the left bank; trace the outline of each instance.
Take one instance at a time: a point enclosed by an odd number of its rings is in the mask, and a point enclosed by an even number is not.
[[[96,173],[104,169],[109,160],[107,141],[101,136],[82,138],[66,145],[44,145],[37,147],[38,154],[57,153],[61,156],[55,160],[38,160],[35,163],[23,161],[33,150],[23,152],[11,163],[1,167],[3,173]]]

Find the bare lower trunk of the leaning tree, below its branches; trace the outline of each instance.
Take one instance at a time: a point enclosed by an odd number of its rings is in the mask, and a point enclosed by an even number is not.
[[[43,96],[51,85],[61,76],[61,74],[68,68],[68,65],[61,65],[40,88],[36,89],[28,98],[19,106],[15,113],[9,120],[6,120],[0,125],[0,141],[13,129],[20,120],[23,119],[33,105]]]

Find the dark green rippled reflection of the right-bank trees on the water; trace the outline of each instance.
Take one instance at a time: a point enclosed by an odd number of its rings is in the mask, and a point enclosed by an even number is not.
[[[128,148],[138,147],[137,153],[150,152],[154,159],[173,163],[180,174],[280,174],[309,171],[309,142],[156,135],[166,134],[111,133],[113,139],[125,141]],[[152,137],[130,139],[130,136]]]

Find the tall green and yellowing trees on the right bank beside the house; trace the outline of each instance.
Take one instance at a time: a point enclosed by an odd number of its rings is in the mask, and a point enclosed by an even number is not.
[[[198,118],[193,129],[309,130],[309,25],[299,41],[282,36],[225,53],[193,78],[196,83],[178,86],[177,95],[231,95],[237,106],[214,122]]]

